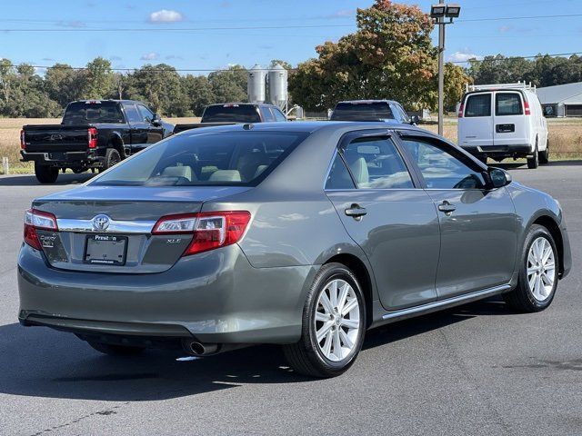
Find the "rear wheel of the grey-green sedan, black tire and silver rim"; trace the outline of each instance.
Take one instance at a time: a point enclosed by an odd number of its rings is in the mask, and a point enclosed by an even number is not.
[[[335,377],[354,364],[365,333],[366,302],[356,276],[341,263],[326,263],[307,292],[301,339],[283,352],[295,372]]]

